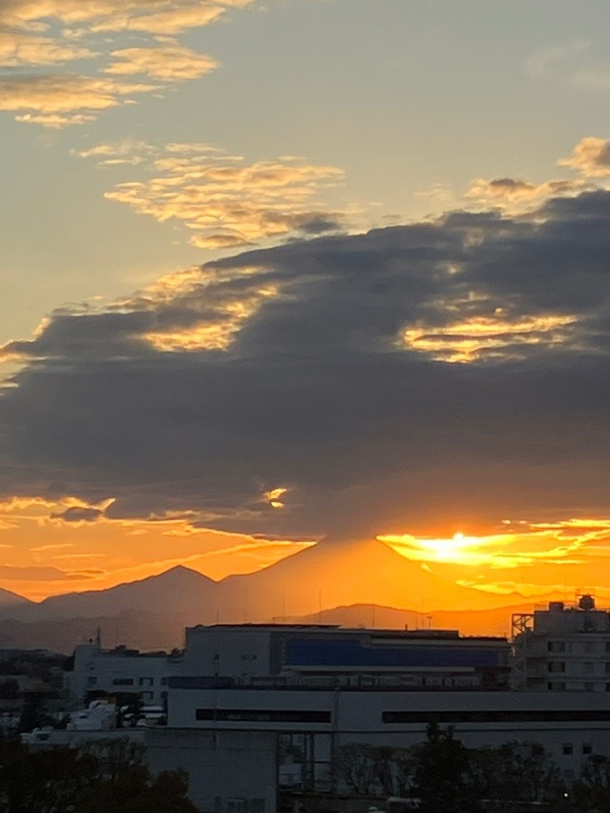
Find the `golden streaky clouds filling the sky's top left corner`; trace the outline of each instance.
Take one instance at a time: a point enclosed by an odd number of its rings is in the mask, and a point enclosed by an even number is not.
[[[251,2],[7,0],[0,7],[0,110],[46,127],[82,125],[135,94],[159,95],[199,79],[218,63],[176,38]]]

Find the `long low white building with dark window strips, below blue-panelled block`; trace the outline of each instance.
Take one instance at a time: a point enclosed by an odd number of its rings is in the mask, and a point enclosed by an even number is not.
[[[154,771],[188,771],[193,801],[216,813],[274,813],[282,790],[328,792],[338,746],[406,748],[432,721],[453,725],[467,747],[541,743],[567,780],[589,754],[610,756],[610,695],[204,682],[172,680],[168,725],[145,743]]]

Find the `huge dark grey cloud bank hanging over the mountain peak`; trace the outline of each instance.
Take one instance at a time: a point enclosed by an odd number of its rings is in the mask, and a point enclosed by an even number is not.
[[[235,303],[258,310],[228,350],[144,338],[213,329]],[[0,487],[268,535],[604,514],[609,304],[608,192],[250,251],[7,348],[28,361],[0,399]],[[438,360],[477,319],[499,341]],[[286,509],[263,497],[278,486]]]

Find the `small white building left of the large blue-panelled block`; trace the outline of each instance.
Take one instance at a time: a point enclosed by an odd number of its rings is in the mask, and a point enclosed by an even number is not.
[[[169,678],[182,673],[182,652],[102,649],[99,643],[88,643],[74,650],[74,669],[66,672],[65,681],[69,695],[79,703],[89,692],[127,693],[138,695],[144,704],[161,706]]]

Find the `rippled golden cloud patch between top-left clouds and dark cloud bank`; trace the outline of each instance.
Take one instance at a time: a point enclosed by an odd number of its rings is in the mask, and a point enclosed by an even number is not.
[[[109,145],[94,149],[104,163],[113,160]],[[343,213],[324,210],[315,200],[319,190],[343,181],[343,170],[302,158],[247,164],[244,156],[212,145],[171,144],[157,154],[149,173],[145,181],[117,184],[106,198],[159,222],[182,221],[198,248],[235,248],[291,232],[317,234],[336,229],[343,219]]]

